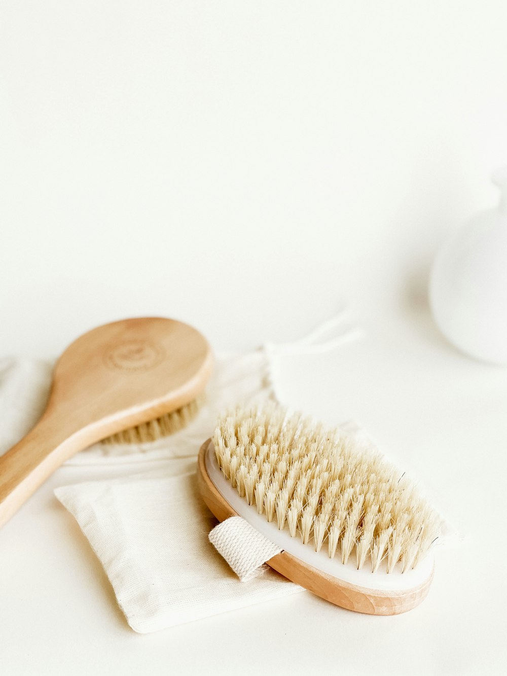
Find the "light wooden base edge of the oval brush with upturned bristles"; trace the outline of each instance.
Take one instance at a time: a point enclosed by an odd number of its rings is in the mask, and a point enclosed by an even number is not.
[[[225,521],[229,516],[236,516],[237,512],[224,500],[206,471],[206,452],[210,441],[210,439],[205,441],[199,451],[197,484],[210,511],[218,521]],[[337,577],[331,577],[295,558],[289,552],[276,554],[270,558],[268,564],[284,577],[341,608],[372,615],[395,615],[415,608],[427,596],[433,579],[432,569],[431,575],[424,583],[400,592],[391,590],[386,592],[382,589],[358,587]]]

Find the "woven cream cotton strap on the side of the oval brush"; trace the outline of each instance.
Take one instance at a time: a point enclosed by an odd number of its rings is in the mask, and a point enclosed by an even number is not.
[[[241,516],[231,516],[222,521],[209,537],[241,582],[262,575],[266,561],[282,551]]]

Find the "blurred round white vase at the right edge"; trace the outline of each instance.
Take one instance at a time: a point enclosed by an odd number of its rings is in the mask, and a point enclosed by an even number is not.
[[[498,209],[482,212],[441,248],[429,300],[443,335],[466,354],[507,364],[507,167],[493,174]]]

